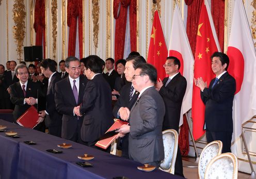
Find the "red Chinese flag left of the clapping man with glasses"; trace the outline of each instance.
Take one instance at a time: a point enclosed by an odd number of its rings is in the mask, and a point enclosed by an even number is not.
[[[162,24],[157,10],[154,13],[154,21],[150,37],[151,38],[149,43],[149,53],[147,62],[152,64],[156,68],[157,78],[161,78],[163,80],[166,76],[163,65],[165,64],[168,55],[168,50]]]

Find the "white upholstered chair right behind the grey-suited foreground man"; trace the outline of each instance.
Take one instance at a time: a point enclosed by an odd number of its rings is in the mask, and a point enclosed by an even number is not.
[[[163,131],[165,158],[159,169],[174,174],[175,160],[178,150],[178,133],[174,129]]]

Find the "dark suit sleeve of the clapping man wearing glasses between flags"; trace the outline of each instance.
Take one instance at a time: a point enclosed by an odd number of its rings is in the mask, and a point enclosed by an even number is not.
[[[186,92],[186,87],[187,87],[187,82],[185,78],[180,78],[176,83],[175,83],[175,88],[168,88],[165,87],[164,85],[161,87],[159,90],[159,93],[166,97],[167,99],[173,101],[173,102],[179,102],[181,99],[183,99],[184,94]]]

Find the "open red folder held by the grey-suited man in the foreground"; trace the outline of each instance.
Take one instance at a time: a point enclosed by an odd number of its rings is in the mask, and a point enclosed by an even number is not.
[[[117,120],[108,130],[106,133],[115,131],[115,129],[120,128],[123,124],[128,124],[128,122]],[[105,134],[106,134],[105,133]],[[117,133],[118,134],[118,133]],[[102,149],[107,149],[108,146],[116,139],[117,134],[114,136],[111,136],[109,138],[99,140],[95,145]]]

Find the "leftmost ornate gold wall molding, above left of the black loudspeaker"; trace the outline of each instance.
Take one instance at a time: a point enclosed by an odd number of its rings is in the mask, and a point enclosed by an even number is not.
[[[19,60],[21,60],[21,55],[23,54],[23,42],[25,38],[25,5],[24,1],[15,0],[13,9],[12,19],[14,21],[14,26],[12,29],[13,38],[15,39],[15,43],[17,44],[17,54],[19,56]]]

